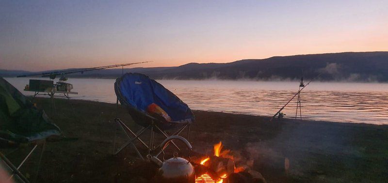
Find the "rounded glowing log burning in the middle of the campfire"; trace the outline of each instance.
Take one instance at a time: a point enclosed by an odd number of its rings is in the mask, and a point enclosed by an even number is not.
[[[226,176],[234,172],[234,162],[230,158],[211,156],[209,168],[219,177],[226,178]]]

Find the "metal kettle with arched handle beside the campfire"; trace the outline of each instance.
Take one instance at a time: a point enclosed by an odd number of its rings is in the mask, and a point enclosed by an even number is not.
[[[189,141],[180,136],[171,136],[166,138],[162,142],[162,152],[167,147],[168,143],[172,140],[177,139],[186,144],[186,146],[192,151],[192,146]],[[164,152],[163,152],[164,154]],[[151,161],[156,163],[160,168],[156,174],[156,179],[160,183],[194,183],[195,182],[195,173],[194,167],[189,161],[184,158],[177,157],[178,153],[174,152],[174,157],[162,162],[156,156],[151,156]]]

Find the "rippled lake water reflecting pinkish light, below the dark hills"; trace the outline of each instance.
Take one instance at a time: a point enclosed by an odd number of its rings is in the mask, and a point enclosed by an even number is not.
[[[5,78],[26,95],[29,78]],[[73,99],[115,103],[114,79],[70,78]],[[298,82],[158,80],[196,110],[273,116],[298,91]],[[333,122],[388,124],[388,84],[312,82],[301,93],[302,117]],[[296,97],[284,108],[295,117]],[[299,115],[299,114],[298,114]]]

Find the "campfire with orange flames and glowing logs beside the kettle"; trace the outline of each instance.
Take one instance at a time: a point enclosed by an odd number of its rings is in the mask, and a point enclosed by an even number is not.
[[[222,150],[222,142],[214,144],[214,155],[203,157],[196,166],[195,183],[223,183],[231,173],[244,168],[236,168],[229,150]]]

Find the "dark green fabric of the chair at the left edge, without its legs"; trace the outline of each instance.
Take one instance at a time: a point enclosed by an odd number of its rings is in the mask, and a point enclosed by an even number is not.
[[[60,135],[44,110],[38,110],[21,92],[0,77],[0,139],[18,143]]]

